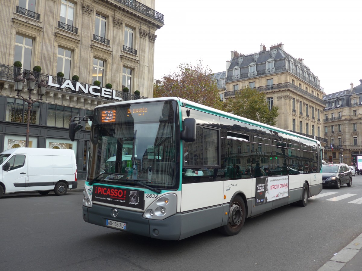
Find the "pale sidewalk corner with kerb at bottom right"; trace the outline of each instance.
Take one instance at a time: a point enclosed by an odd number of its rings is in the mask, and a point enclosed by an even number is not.
[[[317,271],[361,271],[362,233]]]

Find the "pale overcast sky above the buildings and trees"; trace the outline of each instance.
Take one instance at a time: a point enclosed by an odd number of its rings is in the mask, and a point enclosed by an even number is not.
[[[230,51],[246,55],[281,42],[327,94],[362,79],[360,0],[156,0],[155,9],[165,24],[156,31],[155,79],[200,59],[221,72]]]

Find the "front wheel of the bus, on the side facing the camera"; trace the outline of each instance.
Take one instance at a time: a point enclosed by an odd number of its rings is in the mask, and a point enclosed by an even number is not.
[[[237,235],[244,225],[245,218],[245,203],[243,198],[236,195],[230,202],[228,222],[219,228],[220,232],[228,236]]]

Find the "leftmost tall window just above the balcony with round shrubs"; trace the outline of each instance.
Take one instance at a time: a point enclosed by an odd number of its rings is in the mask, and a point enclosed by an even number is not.
[[[25,70],[33,68],[31,66],[33,43],[34,41],[30,38],[16,35],[14,61],[20,61],[22,63],[22,68]]]

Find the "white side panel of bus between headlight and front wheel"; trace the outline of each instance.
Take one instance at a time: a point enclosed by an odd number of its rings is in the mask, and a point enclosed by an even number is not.
[[[224,182],[198,182],[183,184],[181,212],[223,204]]]

